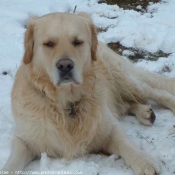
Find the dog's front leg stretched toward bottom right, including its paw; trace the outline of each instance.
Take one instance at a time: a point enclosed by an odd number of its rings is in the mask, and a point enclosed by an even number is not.
[[[159,173],[157,163],[128,139],[119,123],[112,130],[106,151],[123,157],[136,175],[156,175]]]

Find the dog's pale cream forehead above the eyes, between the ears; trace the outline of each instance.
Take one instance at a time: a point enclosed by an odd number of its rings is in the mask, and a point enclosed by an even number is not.
[[[89,27],[87,21],[75,14],[55,13],[43,16],[39,19],[37,29],[42,34],[70,36],[88,35]]]

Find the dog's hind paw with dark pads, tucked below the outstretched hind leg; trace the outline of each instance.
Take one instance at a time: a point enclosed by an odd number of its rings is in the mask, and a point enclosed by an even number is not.
[[[144,125],[152,125],[156,119],[156,115],[152,110],[151,105],[135,103],[131,105],[129,113],[134,114],[137,120]]]

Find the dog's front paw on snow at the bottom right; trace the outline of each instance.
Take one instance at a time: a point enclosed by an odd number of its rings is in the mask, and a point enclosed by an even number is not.
[[[159,166],[153,158],[141,154],[131,165],[136,175],[158,175]]]

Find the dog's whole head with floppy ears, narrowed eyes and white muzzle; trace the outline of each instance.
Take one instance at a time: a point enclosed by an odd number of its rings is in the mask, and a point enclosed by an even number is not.
[[[96,61],[96,48],[89,15],[53,13],[30,19],[23,62],[41,68],[55,86],[81,84]]]

